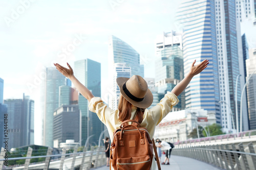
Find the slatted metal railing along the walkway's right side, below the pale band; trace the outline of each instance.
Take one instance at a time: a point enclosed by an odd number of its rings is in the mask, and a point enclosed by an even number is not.
[[[221,145],[189,145],[175,147],[172,155],[198,159],[200,161],[218,166],[222,169],[256,169],[256,147],[252,142],[245,145],[221,144]]]

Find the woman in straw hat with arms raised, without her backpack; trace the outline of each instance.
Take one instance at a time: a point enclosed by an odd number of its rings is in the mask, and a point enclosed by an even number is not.
[[[100,97],[95,97],[92,92],[81,84],[74,76],[73,69],[59,64],[54,64],[62,75],[69,78],[76,89],[89,101],[89,110],[95,112],[101,122],[108,128],[110,139],[113,140],[113,132],[120,127],[125,120],[133,119],[140,126],[146,128],[152,139],[156,126],[177,105],[178,95],[187,87],[191,79],[204,70],[209,60],[204,60],[195,65],[192,63],[188,75],[179,82],[171,92],[167,91],[164,98],[153,108],[147,109],[153,102],[153,94],[148,89],[146,81],[137,75],[131,78],[119,77],[116,79],[120,89],[118,109],[113,110],[103,103]],[[155,169],[155,161],[152,161],[151,169]],[[112,166],[113,169],[113,166]]]

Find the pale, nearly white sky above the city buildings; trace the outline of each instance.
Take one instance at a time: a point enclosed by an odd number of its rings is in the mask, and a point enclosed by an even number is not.
[[[53,66],[53,62],[69,62],[72,66],[76,60],[93,59],[101,63],[102,82],[107,81],[111,35],[134,47],[146,62],[145,77],[154,77],[154,41],[163,31],[175,30],[176,3],[0,0],[0,77],[5,81],[4,99],[22,98],[25,92],[36,100],[41,68]],[[82,36],[83,42],[61,57],[62,48],[67,48],[77,36]]]

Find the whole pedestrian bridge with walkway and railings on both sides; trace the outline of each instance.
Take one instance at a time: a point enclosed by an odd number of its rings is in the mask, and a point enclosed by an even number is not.
[[[162,169],[256,169],[256,131],[226,134],[208,138],[191,139],[175,143],[170,165],[161,165]],[[109,169],[105,166],[104,148],[96,150],[52,155],[48,148],[47,155],[31,157],[29,148],[27,157],[8,158],[9,160],[26,159],[25,164],[5,166],[5,152],[0,154],[1,169]],[[32,158],[46,158],[44,162],[30,163]],[[50,159],[52,158],[52,159]],[[55,158],[55,159],[53,159]],[[164,160],[164,155],[162,156]]]

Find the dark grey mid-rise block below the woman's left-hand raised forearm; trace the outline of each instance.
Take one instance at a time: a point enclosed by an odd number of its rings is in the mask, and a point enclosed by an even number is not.
[[[53,113],[53,147],[73,139],[81,141],[81,122],[78,105],[61,105]]]

